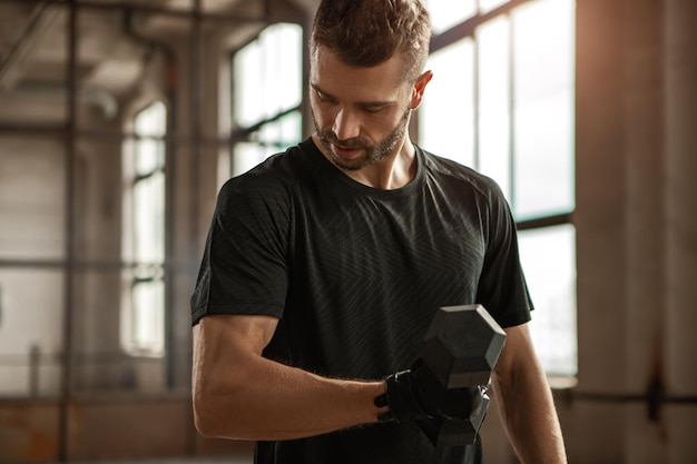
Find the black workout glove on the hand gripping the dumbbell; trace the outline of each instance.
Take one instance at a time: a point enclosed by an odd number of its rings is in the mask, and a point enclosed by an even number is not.
[[[421,362],[385,379],[386,392],[375,398],[377,406],[390,406],[381,421],[440,418],[465,421],[479,414],[485,392],[479,386],[448,389]]]

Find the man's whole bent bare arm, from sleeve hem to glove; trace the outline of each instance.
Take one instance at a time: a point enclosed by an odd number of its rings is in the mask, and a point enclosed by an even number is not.
[[[292,440],[377,421],[384,382],[325,378],[262,357],[277,319],[206,316],[194,326],[193,399],[204,436]]]

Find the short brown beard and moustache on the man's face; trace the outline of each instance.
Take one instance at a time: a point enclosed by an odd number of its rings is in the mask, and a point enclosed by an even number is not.
[[[404,134],[406,132],[409,115],[410,109],[406,109],[394,129],[392,129],[392,131],[387,134],[384,139],[374,145],[370,144],[362,137],[340,140],[332,129],[320,128],[320,126],[317,125],[317,118],[315,118],[314,110],[312,111],[312,121],[315,125],[315,131],[317,132],[317,137],[320,138],[324,150],[330,157],[330,160],[341,169],[360,170],[367,166],[374,165],[375,162],[383,159],[385,156],[394,152],[396,145],[400,142],[400,140],[402,140]],[[336,156],[336,154],[334,154],[332,147],[333,144],[336,144],[344,148],[360,148],[363,149],[365,154],[362,157],[355,159],[341,158]]]

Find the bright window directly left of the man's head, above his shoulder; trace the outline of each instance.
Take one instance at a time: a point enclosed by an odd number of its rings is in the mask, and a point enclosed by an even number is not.
[[[302,36],[297,24],[269,26],[233,57],[233,175],[301,139]]]

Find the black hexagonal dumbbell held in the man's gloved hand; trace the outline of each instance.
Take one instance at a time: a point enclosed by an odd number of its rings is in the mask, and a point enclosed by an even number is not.
[[[445,388],[470,388],[467,419],[421,419],[419,427],[434,446],[472,444],[489,407],[487,386],[505,343],[505,332],[482,305],[436,310],[421,347],[425,367]]]

